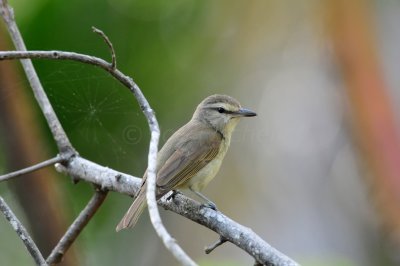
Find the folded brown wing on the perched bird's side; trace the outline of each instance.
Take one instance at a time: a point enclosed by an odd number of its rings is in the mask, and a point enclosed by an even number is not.
[[[157,173],[157,187],[161,194],[184,184],[217,156],[221,137],[212,130],[203,134],[201,138],[183,143],[161,166]]]

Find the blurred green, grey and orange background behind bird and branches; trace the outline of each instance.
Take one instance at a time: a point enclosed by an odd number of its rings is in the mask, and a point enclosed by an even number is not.
[[[30,50],[109,59],[156,110],[161,143],[206,96],[225,93],[245,119],[217,178],[219,209],[303,265],[399,265],[400,2],[396,0],[12,0]],[[11,50],[0,23],[0,50]],[[135,176],[149,131],[134,97],[109,75],[65,61],[34,61],[79,153]],[[0,62],[0,172],[54,156],[47,125],[17,62]],[[48,168],[0,184],[45,254],[93,188]],[[147,214],[115,233],[131,199],[110,193],[64,265],[176,265]],[[162,211],[200,265],[252,265],[217,235]],[[0,219],[0,264],[32,259]]]

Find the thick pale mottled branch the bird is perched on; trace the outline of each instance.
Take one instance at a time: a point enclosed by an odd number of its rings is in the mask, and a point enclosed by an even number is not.
[[[141,184],[140,178],[103,167],[79,156],[71,158],[66,166],[56,164],[56,169],[84,181],[97,184],[102,189],[130,196],[135,195]],[[213,230],[232,244],[246,251],[257,261],[262,262],[262,264],[298,265],[261,239],[251,229],[236,223],[221,212],[204,208],[198,202],[181,194],[176,194],[173,200],[166,200],[165,198],[167,197],[168,195],[159,200],[159,204],[162,207]]]

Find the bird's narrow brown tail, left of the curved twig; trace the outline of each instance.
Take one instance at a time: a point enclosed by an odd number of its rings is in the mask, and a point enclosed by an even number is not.
[[[118,232],[122,229],[135,226],[143,210],[146,208],[146,189],[142,187],[139,191],[139,195],[132,203],[129,210],[125,213],[115,230]]]

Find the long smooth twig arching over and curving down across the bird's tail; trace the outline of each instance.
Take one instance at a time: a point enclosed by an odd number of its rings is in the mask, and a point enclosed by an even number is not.
[[[93,56],[87,56],[72,52],[62,52],[62,51],[15,51],[15,52],[0,52],[0,60],[5,59],[21,59],[21,58],[38,58],[38,59],[64,59],[73,60],[86,64],[91,64],[98,66],[102,69],[108,71],[113,77],[115,77],[122,84],[127,86],[130,91],[135,95],[144,115],[147,118],[151,139],[149,147],[148,156],[148,176],[147,176],[147,203],[149,206],[150,220],[156,230],[158,236],[162,239],[166,248],[175,256],[175,258],[181,262],[182,265],[196,265],[190,257],[185,254],[182,248],[176,243],[176,241],[169,235],[164,225],[161,222],[160,214],[157,208],[156,196],[155,196],[155,168],[156,168],[156,157],[158,151],[158,141],[160,136],[160,130],[158,122],[155,118],[154,111],[150,108],[147,99],[144,97],[143,93],[133,80],[124,75],[118,69],[113,69],[110,67],[105,60],[96,58]],[[151,196],[153,194],[153,196]]]

